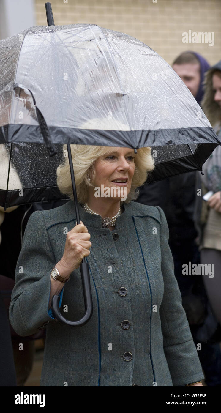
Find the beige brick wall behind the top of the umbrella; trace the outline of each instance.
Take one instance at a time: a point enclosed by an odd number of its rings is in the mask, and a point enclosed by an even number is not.
[[[212,65],[221,59],[221,0],[51,0],[56,25],[93,23],[127,33],[166,62],[185,50]],[[35,0],[36,24],[46,26],[45,0]],[[183,43],[182,33],[214,32],[209,43]]]

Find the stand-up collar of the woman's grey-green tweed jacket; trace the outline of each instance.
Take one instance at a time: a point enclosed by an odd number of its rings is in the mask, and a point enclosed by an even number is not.
[[[71,199],[67,203],[69,210],[71,212],[71,215],[74,216],[76,219],[76,212],[75,212],[75,206],[74,206],[74,201]],[[127,225],[129,219],[131,218],[133,214],[133,208],[131,205],[131,202],[126,204],[123,202],[123,207],[124,207],[124,212],[116,218],[116,224],[115,224],[115,230],[120,229]],[[94,215],[94,214],[89,214],[86,212],[81,204],[78,202],[78,208],[79,208],[79,214],[80,214],[80,220],[84,223],[84,225],[89,225],[90,227],[95,227],[95,228],[100,228],[100,229],[107,229],[107,228],[102,228],[102,217],[100,215]]]

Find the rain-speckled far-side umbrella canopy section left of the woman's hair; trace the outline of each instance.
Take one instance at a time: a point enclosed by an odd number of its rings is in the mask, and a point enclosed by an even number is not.
[[[62,162],[63,145],[55,145],[50,157],[45,145],[13,143],[0,145],[0,206],[12,207],[32,202],[69,199],[57,187],[57,167]]]

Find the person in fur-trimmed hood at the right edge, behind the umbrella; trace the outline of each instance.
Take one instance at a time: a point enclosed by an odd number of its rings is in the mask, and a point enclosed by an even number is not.
[[[202,110],[209,119],[216,134],[221,137],[221,60],[205,74]],[[200,261],[214,265],[214,277],[202,275],[211,307],[221,325],[221,145],[217,146],[202,166],[201,175],[197,173],[196,190],[202,189],[197,196],[195,226],[198,230]],[[203,195],[213,191],[208,201]]]

